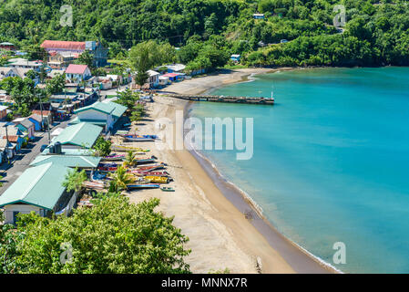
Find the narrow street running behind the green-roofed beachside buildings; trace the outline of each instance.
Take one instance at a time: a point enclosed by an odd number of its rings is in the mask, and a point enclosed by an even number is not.
[[[66,128],[69,120],[62,121],[57,124],[50,132],[58,128]],[[20,153],[15,155],[15,158],[8,165],[3,163],[0,165],[0,175],[3,176],[1,180],[3,186],[0,188],[0,195],[5,193],[5,190],[28,168],[29,164],[34,161],[36,156],[40,153],[41,146],[48,144],[47,132],[36,132],[36,140],[30,142],[27,149],[23,149]]]

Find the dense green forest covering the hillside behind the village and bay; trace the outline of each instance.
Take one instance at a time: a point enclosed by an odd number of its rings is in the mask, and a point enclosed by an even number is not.
[[[409,7],[403,0],[5,0],[0,41],[36,50],[44,39],[100,39],[109,57],[155,40],[181,47],[189,68],[409,65]],[[71,5],[72,26],[61,26]],[[333,26],[344,5],[346,24]],[[254,13],[264,19],[253,19]],[[281,43],[281,40],[288,42]],[[168,57],[169,58],[169,57]],[[172,57],[171,57],[172,58]]]

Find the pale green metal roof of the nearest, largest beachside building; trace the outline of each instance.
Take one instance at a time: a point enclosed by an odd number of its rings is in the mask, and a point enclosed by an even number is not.
[[[69,168],[54,163],[27,169],[0,196],[0,206],[28,203],[52,210],[66,190],[62,183],[68,170]]]

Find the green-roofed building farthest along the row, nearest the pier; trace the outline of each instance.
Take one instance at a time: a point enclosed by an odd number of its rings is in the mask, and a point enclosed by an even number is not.
[[[114,127],[126,110],[127,107],[115,102],[97,101],[87,107],[74,110],[77,118],[71,121],[71,124],[88,122],[103,127],[107,132]]]

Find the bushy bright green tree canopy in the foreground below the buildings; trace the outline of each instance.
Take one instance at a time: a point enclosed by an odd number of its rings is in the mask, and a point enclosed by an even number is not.
[[[189,239],[158,204],[114,195],[70,217],[21,215],[0,229],[0,273],[189,273]]]

